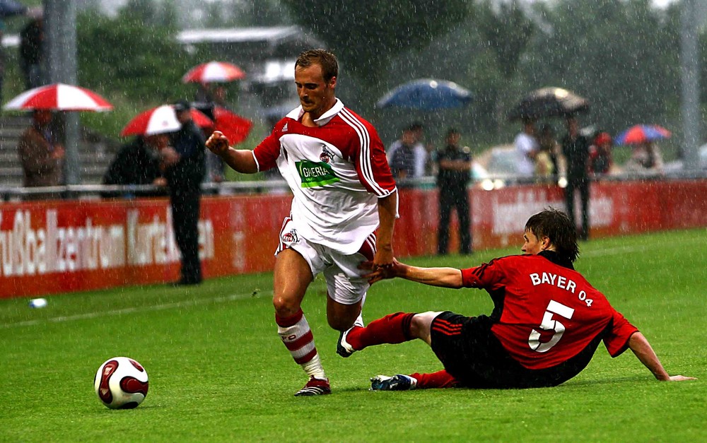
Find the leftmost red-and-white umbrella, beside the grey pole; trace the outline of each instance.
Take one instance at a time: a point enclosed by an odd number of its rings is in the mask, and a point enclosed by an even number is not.
[[[113,105],[92,90],[54,83],[25,90],[7,102],[4,109],[100,112],[112,110]]]

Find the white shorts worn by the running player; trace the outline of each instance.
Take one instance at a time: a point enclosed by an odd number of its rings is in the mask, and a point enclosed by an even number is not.
[[[275,255],[285,249],[294,249],[307,261],[312,276],[324,273],[327,281],[327,293],[335,302],[342,305],[354,305],[366,295],[368,280],[361,277],[368,271],[362,271],[358,265],[364,261],[373,261],[375,255],[375,233],[363,242],[356,254],[344,255],[321,244],[308,242],[297,233],[295,223],[286,217],[280,230],[280,241]]]

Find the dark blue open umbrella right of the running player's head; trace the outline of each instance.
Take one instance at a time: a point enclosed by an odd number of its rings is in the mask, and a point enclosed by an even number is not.
[[[403,83],[378,100],[378,107],[407,107],[414,110],[440,110],[463,107],[472,100],[472,93],[457,83],[421,78]]]

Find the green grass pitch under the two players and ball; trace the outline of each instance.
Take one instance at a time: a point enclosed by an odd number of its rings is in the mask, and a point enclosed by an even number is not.
[[[660,383],[630,351],[600,345],[578,377],[556,388],[368,391],[375,374],[434,371],[420,342],[335,353],[317,279],[303,309],[333,395],[297,398],[305,382],[276,335],[271,274],[0,300],[0,441],[4,442],[429,442],[707,441],[707,231],[662,232],[580,245],[578,271],[638,326],[671,374]],[[514,249],[421,257],[423,266],[469,267]],[[390,312],[491,311],[480,290],[386,280],[371,288],[364,319]],[[107,358],[141,362],[149,394],[109,410],[93,391]]]

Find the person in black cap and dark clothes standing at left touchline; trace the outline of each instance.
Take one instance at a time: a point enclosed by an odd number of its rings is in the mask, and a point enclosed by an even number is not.
[[[201,283],[199,260],[199,205],[204,180],[206,139],[192,120],[187,100],[175,104],[182,128],[173,136],[173,149],[163,150],[165,178],[170,188],[172,222],[177,247],[182,254],[182,277],[176,285]]]

